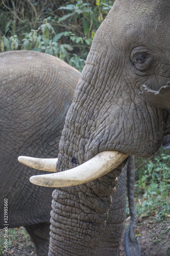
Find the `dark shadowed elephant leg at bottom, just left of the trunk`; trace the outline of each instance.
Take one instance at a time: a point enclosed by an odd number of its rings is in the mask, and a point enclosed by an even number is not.
[[[37,256],[47,255],[50,240],[50,224],[38,223],[25,226],[25,228],[35,244]]]

